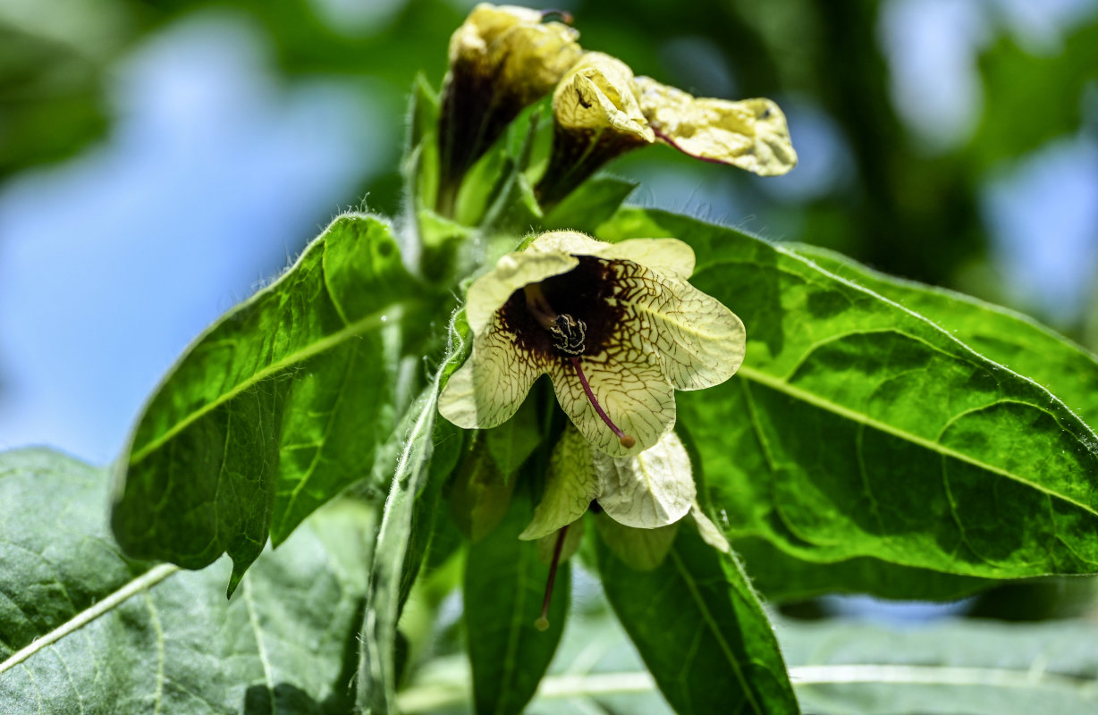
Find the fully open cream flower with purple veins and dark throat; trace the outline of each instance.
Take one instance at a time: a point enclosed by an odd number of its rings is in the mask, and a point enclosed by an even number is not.
[[[686,282],[693,270],[694,252],[675,238],[538,236],[469,288],[472,354],[439,412],[494,427],[548,373],[595,447],[616,457],[652,447],[674,425],[675,389],[719,384],[743,361],[743,323]]]

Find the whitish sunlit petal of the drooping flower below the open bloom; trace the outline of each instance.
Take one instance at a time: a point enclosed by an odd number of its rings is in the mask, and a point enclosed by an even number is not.
[[[598,505],[626,526],[658,528],[686,516],[697,496],[686,448],[674,432],[632,457],[592,455]]]

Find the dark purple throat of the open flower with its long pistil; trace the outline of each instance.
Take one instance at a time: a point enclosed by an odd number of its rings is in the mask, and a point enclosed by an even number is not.
[[[621,317],[614,294],[615,264],[592,256],[576,256],[580,265],[560,276],[516,290],[501,309],[504,326],[515,336],[515,346],[542,359],[565,360],[575,371],[591,406],[617,435],[621,446],[636,438],[614,424],[587,382],[580,361],[597,355]]]

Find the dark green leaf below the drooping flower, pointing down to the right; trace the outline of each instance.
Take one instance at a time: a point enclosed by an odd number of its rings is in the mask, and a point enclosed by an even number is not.
[[[636,571],[600,544],[603,591],[680,715],[797,713],[770,621],[739,563],[679,529],[663,563]]]

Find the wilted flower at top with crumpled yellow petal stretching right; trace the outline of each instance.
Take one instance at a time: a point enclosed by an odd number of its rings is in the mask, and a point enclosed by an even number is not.
[[[551,206],[606,161],[656,142],[760,176],[797,163],[785,115],[771,100],[696,99],[586,53],[553,92],[553,146],[535,193]]]

